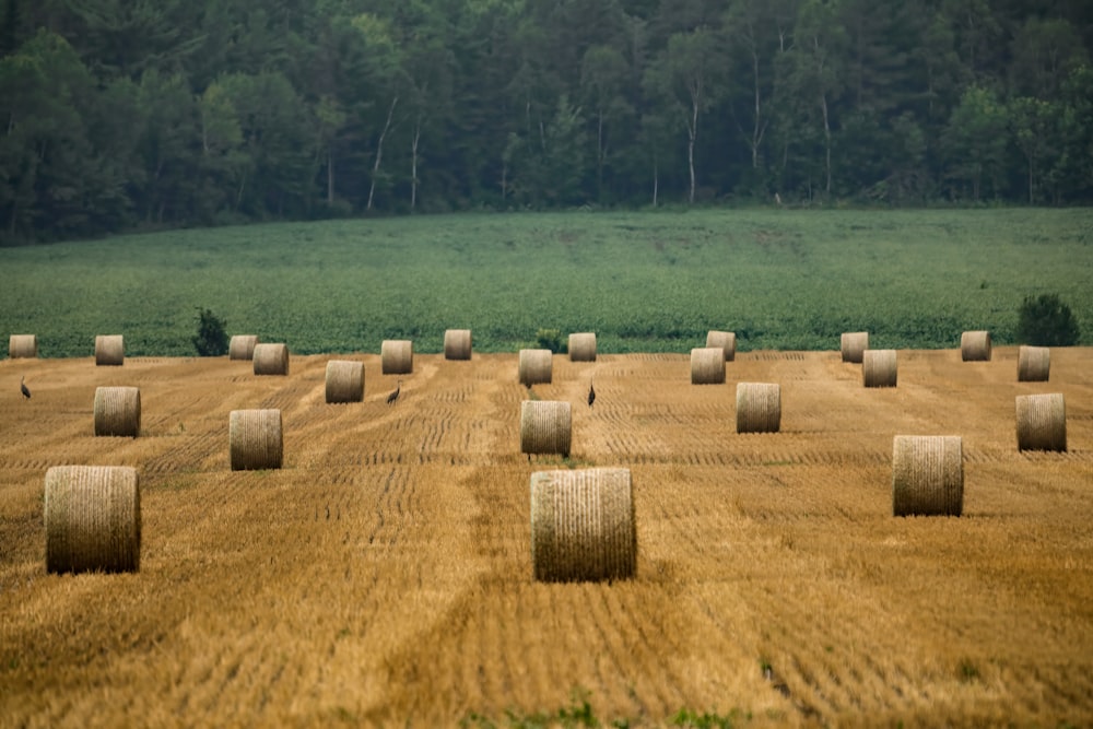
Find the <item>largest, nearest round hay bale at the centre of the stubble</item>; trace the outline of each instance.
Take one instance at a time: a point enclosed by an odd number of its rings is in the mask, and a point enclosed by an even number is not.
[[[637,531],[630,469],[531,474],[531,565],[545,583],[631,579]]]

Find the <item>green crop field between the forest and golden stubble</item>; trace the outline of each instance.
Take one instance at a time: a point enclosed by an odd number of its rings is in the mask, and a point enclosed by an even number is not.
[[[541,328],[600,352],[1013,343],[1025,296],[1057,293],[1093,343],[1093,210],[691,210],[459,214],[280,223],[0,248],[0,336],[40,356],[195,354],[197,308],[293,352],[378,352],[385,339],[480,352]]]

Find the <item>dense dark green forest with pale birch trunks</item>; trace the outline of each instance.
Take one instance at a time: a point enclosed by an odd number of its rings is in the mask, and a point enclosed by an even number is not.
[[[0,1],[0,243],[1093,202],[1088,0]]]

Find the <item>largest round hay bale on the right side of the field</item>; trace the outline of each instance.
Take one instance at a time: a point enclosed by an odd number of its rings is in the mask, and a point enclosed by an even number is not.
[[[960,516],[963,510],[964,457],[960,436],[895,436],[892,515]]]

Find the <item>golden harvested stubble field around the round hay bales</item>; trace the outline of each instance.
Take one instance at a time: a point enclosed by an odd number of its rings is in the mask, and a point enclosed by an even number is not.
[[[320,355],[0,362],[0,725],[504,725],[577,691],[630,726],[1089,726],[1093,350],[1049,383],[1015,348],[898,357],[866,389],[837,351],[738,353],[709,386],[682,353],[559,355],[533,391],[574,405],[566,463],[519,454],[515,354],[416,355],[391,407],[377,354],[330,405]],[[780,433],[736,433],[741,380],[781,385]],[[115,385],[137,439],[93,435]],[[1016,450],[1032,392],[1065,393],[1068,452]],[[283,411],[282,470],[230,470],[244,408]],[[896,434],[963,436],[962,518],[891,516]],[[138,469],[139,574],[46,574],[64,463]],[[632,469],[636,579],[532,581],[530,474],[565,466]]]

